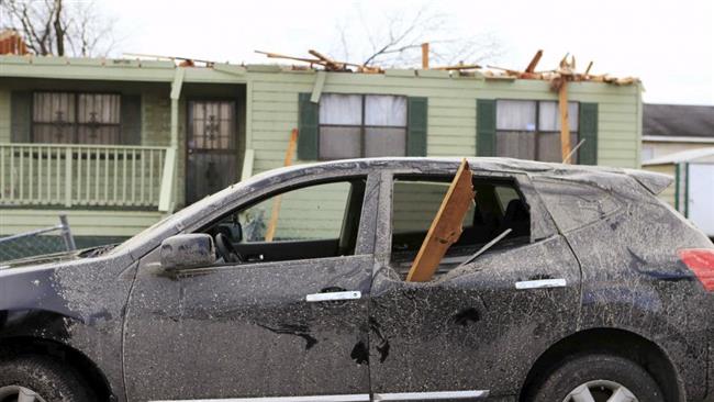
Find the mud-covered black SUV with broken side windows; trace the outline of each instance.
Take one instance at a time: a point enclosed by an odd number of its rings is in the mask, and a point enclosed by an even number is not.
[[[714,246],[656,198],[669,178],[468,161],[426,282],[456,159],[274,170],[2,266],[0,401],[712,400]]]

